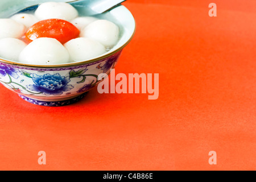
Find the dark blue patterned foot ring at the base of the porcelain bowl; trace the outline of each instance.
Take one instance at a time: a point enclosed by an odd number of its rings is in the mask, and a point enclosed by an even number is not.
[[[39,101],[39,100],[35,100],[34,98],[30,98],[22,95],[19,95],[19,97],[23,98],[23,100],[27,102],[30,102],[31,104],[40,105],[40,106],[65,106],[65,105],[73,104],[77,101],[80,101],[82,98],[85,97],[86,94],[87,92],[79,96],[76,96],[74,98],[69,98],[68,100],[64,100],[64,101]]]

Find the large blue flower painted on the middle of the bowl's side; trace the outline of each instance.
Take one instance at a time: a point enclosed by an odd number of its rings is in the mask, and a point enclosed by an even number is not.
[[[47,73],[43,76],[32,74],[31,77],[35,84],[28,85],[27,88],[47,96],[60,95],[73,89],[72,85],[68,85],[68,82],[70,82],[69,77],[60,76],[59,73],[55,75]]]

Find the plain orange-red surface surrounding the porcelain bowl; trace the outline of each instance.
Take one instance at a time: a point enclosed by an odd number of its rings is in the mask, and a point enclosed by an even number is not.
[[[115,73],[159,73],[158,100],[95,88],[76,104],[44,107],[0,85],[0,169],[255,170],[256,2],[123,5],[137,31]]]

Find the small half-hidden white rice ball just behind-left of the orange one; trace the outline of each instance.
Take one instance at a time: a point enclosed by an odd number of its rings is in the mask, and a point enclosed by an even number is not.
[[[15,20],[18,23],[24,24],[26,28],[31,27],[36,22],[39,22],[39,19],[35,15],[27,13],[19,13],[11,16],[11,19]]]

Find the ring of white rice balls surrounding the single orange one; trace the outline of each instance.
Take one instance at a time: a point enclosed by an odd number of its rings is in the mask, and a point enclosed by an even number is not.
[[[46,19],[63,19],[80,35],[61,44],[54,38],[24,40],[28,29]],[[0,19],[0,57],[24,64],[53,65],[93,59],[117,44],[119,28],[113,22],[93,16],[79,16],[75,7],[64,2],[42,3],[34,14],[20,13]]]

